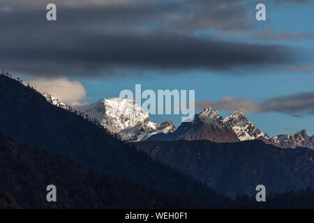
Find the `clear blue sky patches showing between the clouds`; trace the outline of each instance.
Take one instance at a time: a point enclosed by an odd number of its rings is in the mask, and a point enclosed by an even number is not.
[[[274,3],[267,6],[267,20],[270,22],[255,22],[257,30],[276,29],[278,31],[290,31],[294,33],[314,34],[314,2],[304,5],[275,7]],[[255,10],[252,10],[254,15]],[[254,30],[255,31],[255,30]],[[212,35],[213,31],[202,31],[202,35]],[[252,40],[245,34],[239,36],[226,36],[229,40],[241,40],[244,42],[264,43],[264,40]],[[313,38],[301,40],[267,40],[267,43],[292,45],[301,51],[306,51],[313,56]],[[300,52],[301,53],[301,52]],[[305,61],[299,65],[314,66],[313,61]],[[296,65],[292,65],[296,66]],[[220,100],[225,95],[234,98],[253,98],[257,102],[263,102],[275,96],[291,95],[299,92],[313,91],[314,71],[287,72],[281,69],[263,69],[242,76],[222,75],[219,72],[179,72],[176,75],[165,78],[162,74],[151,77],[123,77],[112,79],[96,79],[97,83],[82,84],[87,89],[87,102],[94,102],[100,98],[117,97],[122,89],[135,91],[135,84],[142,84],[142,89],[195,89],[195,100]],[[197,112],[201,112],[198,110]],[[219,111],[223,116],[230,111]],[[306,129],[308,134],[314,134],[314,116],[307,115],[294,117],[288,114],[267,112],[258,114],[246,114],[257,125],[257,128],[267,132],[270,136],[287,134]],[[181,122],[178,115],[151,115],[151,119],[158,123],[172,119],[176,126]]]

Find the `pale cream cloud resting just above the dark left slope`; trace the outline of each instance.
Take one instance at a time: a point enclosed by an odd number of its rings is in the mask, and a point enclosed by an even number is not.
[[[36,78],[29,81],[31,86],[36,86],[40,92],[47,92],[54,95],[61,102],[67,105],[80,105],[86,97],[84,86],[77,81],[71,82],[66,77],[57,77],[53,79]]]

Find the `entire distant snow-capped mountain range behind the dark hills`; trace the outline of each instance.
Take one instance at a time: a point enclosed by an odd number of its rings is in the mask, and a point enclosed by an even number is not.
[[[43,93],[48,102],[68,109],[57,98]],[[104,128],[119,134],[126,141],[144,140],[201,140],[216,142],[236,142],[260,139],[266,144],[281,148],[298,146],[314,149],[314,136],[309,137],[306,130],[294,134],[278,134],[269,138],[254,123],[246,118],[244,112],[233,112],[223,118],[216,109],[207,107],[200,114],[195,114],[192,122],[181,123],[175,128],[172,121],[158,124],[150,120],[149,114],[135,101],[124,98],[103,98],[91,105],[77,106],[75,109],[96,118]]]

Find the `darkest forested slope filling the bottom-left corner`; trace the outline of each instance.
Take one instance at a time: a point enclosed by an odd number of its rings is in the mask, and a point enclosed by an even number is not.
[[[197,208],[182,196],[147,190],[130,180],[81,171],[73,162],[0,132],[0,208]],[[46,200],[47,185],[56,185],[57,202]],[[10,192],[10,194],[8,193]],[[15,199],[13,199],[13,197]]]

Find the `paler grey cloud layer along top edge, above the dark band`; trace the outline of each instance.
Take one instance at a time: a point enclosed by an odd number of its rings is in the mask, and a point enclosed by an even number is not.
[[[55,0],[57,9],[63,11],[62,17],[75,18],[81,15],[85,21],[98,20],[116,25],[119,20],[124,24],[154,21],[155,28],[177,31],[197,29],[242,29],[250,26],[250,16],[246,12],[244,0]],[[12,10],[45,10],[50,1],[3,0],[0,8]],[[80,18],[79,18],[80,20]],[[140,21],[142,20],[142,21]],[[113,23],[112,23],[113,22]],[[161,22],[161,24],[160,24]],[[120,24],[121,25],[121,24]]]

